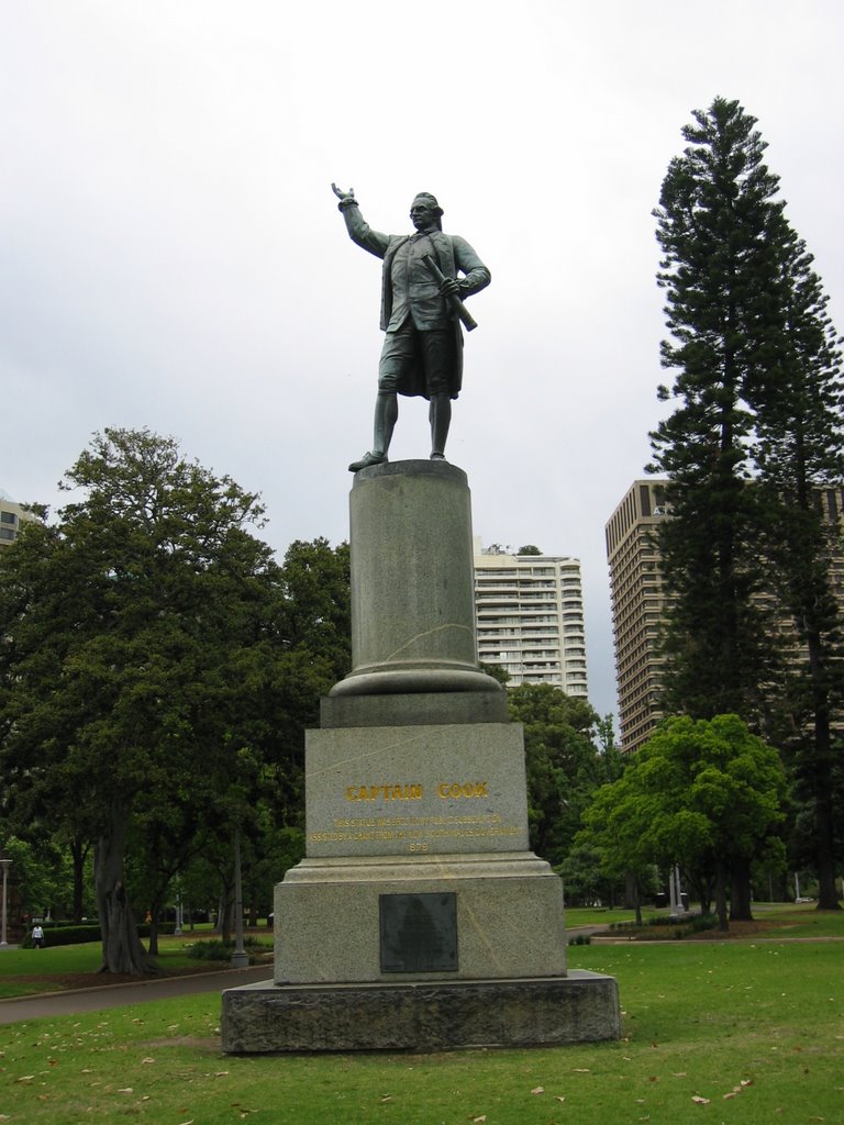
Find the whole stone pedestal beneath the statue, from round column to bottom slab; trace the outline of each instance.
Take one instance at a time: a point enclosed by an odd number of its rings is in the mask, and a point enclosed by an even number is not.
[[[273,980],[224,993],[224,1050],[617,1038],[614,980],[566,971],[522,729],[477,667],[465,474],[358,472],[351,549],[352,670],[306,738],[306,858],[276,888]]]

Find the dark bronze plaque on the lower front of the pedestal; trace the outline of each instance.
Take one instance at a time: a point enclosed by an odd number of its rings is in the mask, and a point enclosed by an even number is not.
[[[457,970],[457,894],[381,894],[383,973]]]

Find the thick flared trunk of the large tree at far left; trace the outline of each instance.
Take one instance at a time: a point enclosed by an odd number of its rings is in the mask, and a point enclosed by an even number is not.
[[[101,973],[132,973],[146,976],[159,971],[137,936],[126,886],[123,861],[126,845],[126,819],[111,812],[110,829],[104,832],[93,853],[93,882],[102,933]]]

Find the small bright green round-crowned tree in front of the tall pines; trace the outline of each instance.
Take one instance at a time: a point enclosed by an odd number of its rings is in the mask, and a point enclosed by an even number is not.
[[[623,775],[598,791],[577,843],[596,847],[609,873],[680,863],[692,879],[711,874],[726,929],[735,868],[770,862],[774,850],[784,860],[784,793],[776,750],[737,716],[668,719]]]

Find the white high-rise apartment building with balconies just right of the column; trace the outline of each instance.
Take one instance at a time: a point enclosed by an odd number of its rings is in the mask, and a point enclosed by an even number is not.
[[[586,698],[580,559],[510,555],[475,542],[478,659],[506,669],[510,686],[553,684]]]

